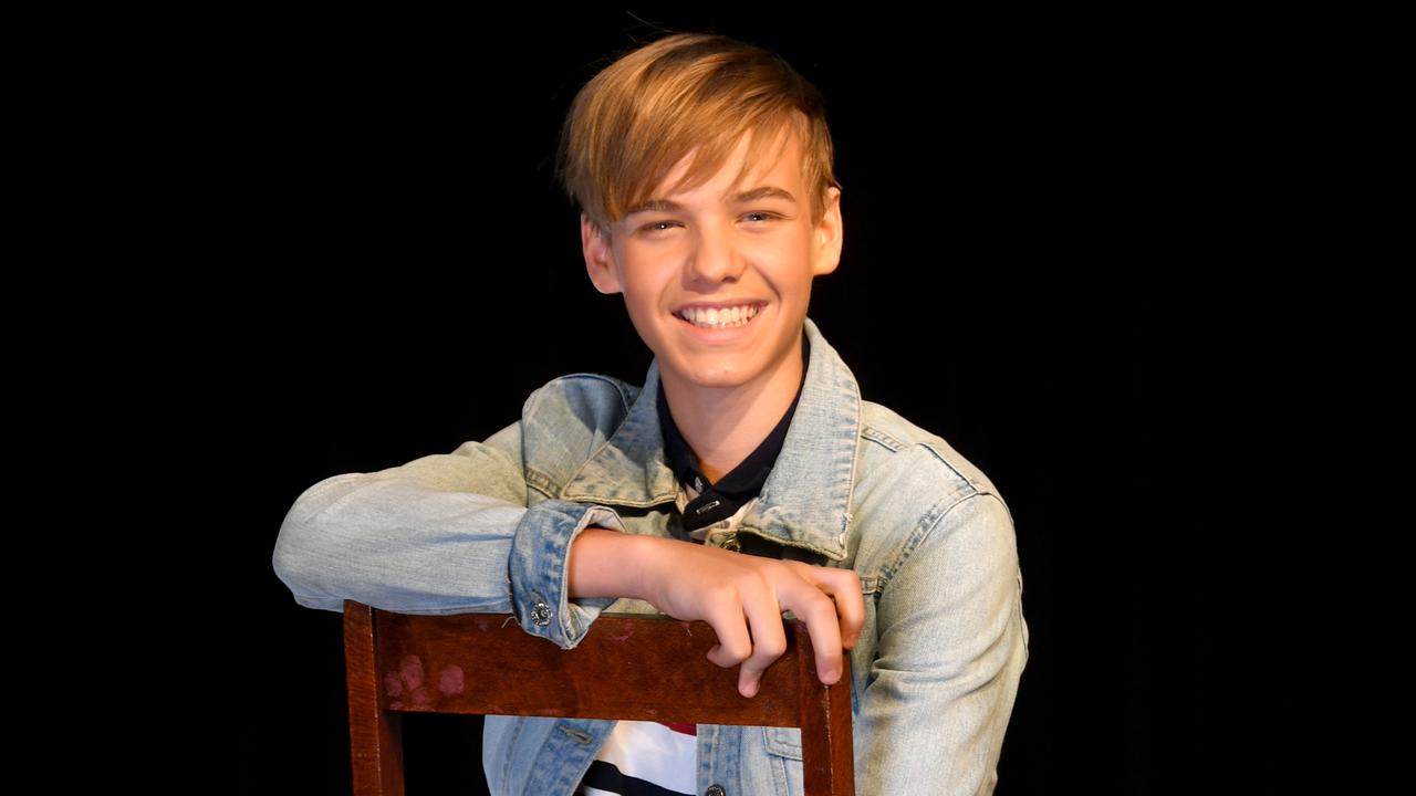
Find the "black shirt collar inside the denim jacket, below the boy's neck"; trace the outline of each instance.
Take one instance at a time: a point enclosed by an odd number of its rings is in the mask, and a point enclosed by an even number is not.
[[[678,432],[678,426],[674,425],[673,415],[668,412],[664,381],[658,381],[658,425],[664,432],[664,453],[668,457],[668,466],[681,483],[692,484],[694,490],[700,493],[698,497],[684,507],[685,530],[701,528],[726,520],[736,514],[743,504],[762,493],[762,484],[766,483],[767,474],[772,472],[772,466],[776,465],[777,455],[782,452],[782,443],[786,442],[787,428],[792,425],[792,415],[796,414],[797,401],[801,399],[801,385],[806,384],[806,370],[811,361],[810,353],[810,343],[807,343],[806,334],[803,334],[801,384],[797,385],[796,398],[792,399],[792,405],[787,406],[786,414],[782,415],[782,419],[777,421],[777,425],[767,433],[766,439],[758,445],[756,450],[749,453],[731,473],[724,474],[718,483],[711,483],[694,463],[694,453]]]

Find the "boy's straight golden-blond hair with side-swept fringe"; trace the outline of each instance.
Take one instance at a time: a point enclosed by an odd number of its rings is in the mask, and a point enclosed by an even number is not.
[[[561,127],[555,173],[609,239],[626,210],[650,198],[695,147],[701,150],[670,194],[712,178],[739,137],[752,132],[741,184],[783,127],[800,143],[816,225],[827,188],[840,188],[821,93],[758,45],[678,33],[620,57],[581,88]]]

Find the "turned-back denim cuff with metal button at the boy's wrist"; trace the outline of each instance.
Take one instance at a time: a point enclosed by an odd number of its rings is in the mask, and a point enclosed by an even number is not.
[[[627,533],[613,508],[542,500],[528,508],[517,524],[507,561],[517,622],[527,633],[566,650],[579,644],[590,622],[619,599],[568,599],[571,544],[590,525]]]

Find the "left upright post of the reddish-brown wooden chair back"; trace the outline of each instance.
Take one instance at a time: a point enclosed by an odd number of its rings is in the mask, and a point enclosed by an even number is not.
[[[404,796],[402,717],[384,708],[374,654],[374,609],[344,601],[354,795]]]

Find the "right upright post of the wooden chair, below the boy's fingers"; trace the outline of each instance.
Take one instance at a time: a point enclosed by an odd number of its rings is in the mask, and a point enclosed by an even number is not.
[[[855,796],[851,738],[851,659],[835,686],[816,676],[816,653],[806,622],[796,622],[797,687],[801,705],[801,776],[807,796]]]

